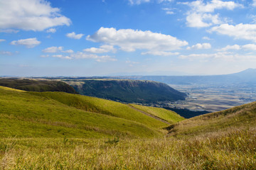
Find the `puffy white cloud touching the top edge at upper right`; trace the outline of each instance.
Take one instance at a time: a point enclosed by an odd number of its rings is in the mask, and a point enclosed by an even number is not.
[[[233,10],[240,4],[236,4],[233,1],[220,1],[212,0],[208,3],[204,3],[203,0],[197,0],[192,2],[183,3],[191,7],[191,11],[188,11],[186,21],[189,27],[208,27],[215,24],[222,23],[218,14],[212,14],[215,9],[226,8],[228,10]]]

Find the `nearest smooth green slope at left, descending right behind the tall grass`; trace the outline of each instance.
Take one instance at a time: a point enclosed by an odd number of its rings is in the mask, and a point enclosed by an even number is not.
[[[83,111],[49,97],[0,86],[0,137],[95,138],[159,135],[162,135],[159,130],[142,123]]]

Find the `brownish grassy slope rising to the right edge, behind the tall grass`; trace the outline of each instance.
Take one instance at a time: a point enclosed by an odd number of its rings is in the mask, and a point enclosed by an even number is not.
[[[172,135],[200,135],[233,128],[256,127],[256,102],[199,115],[169,127]]]

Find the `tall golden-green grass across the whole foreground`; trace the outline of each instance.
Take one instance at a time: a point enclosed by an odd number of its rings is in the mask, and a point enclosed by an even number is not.
[[[256,129],[158,139],[4,138],[1,169],[255,169]]]

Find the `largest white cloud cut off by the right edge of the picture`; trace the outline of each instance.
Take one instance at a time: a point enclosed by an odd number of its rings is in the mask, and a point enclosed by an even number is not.
[[[210,29],[210,32],[216,32],[223,35],[228,35],[235,39],[252,40],[256,42],[256,24],[229,25],[228,23],[215,26]]]

